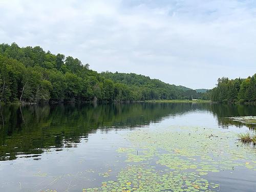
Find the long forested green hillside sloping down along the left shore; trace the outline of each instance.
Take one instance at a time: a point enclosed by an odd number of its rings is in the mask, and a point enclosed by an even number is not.
[[[0,44],[0,103],[203,98],[195,90],[134,73],[97,73],[77,58],[39,46]]]

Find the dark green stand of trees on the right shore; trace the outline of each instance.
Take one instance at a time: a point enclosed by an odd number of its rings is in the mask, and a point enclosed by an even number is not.
[[[256,101],[256,74],[246,79],[218,79],[217,87],[210,90],[210,98],[217,102],[255,102]]]

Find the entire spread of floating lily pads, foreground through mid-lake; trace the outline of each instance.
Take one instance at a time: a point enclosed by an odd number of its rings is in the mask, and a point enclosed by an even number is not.
[[[255,148],[238,145],[233,132],[172,127],[134,131],[125,138],[133,145],[120,147],[117,152],[130,164],[116,180],[83,191],[219,191],[218,183],[204,178],[208,173],[256,170]]]

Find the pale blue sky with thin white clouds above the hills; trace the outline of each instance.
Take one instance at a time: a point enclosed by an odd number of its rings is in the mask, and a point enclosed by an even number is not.
[[[0,43],[192,89],[256,73],[254,0],[1,0]]]

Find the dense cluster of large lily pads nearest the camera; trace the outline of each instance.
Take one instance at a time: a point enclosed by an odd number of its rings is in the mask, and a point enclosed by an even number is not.
[[[116,181],[102,182],[101,187],[83,191],[214,191],[219,184],[209,183],[196,173],[166,172],[148,164],[129,165]]]

